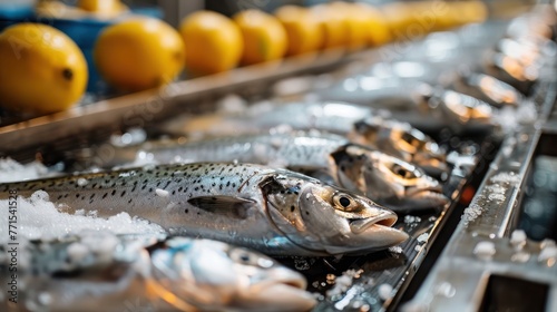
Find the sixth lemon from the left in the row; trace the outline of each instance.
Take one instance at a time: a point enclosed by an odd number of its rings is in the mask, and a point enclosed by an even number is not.
[[[326,4],[312,7],[310,11],[317,19],[323,33],[321,49],[344,47],[348,31],[344,14]]]

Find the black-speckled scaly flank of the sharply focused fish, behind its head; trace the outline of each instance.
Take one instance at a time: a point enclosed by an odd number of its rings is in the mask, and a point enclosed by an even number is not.
[[[9,191],[16,191],[18,195],[28,197],[35,191],[43,189],[51,201],[62,204],[66,212],[86,209],[97,211],[99,216],[110,216],[125,211],[173,230],[173,234],[189,234],[180,233],[180,228],[187,228],[194,233],[203,232],[206,236],[226,226],[231,220],[222,220],[218,214],[207,213],[189,205],[187,199],[205,195],[242,194],[258,198],[261,194],[241,193],[238,188],[242,184],[256,185],[258,181],[248,182],[250,177],[265,170],[268,169],[235,164],[159,166],[156,169],[128,169],[4,184],[2,192],[7,194]],[[87,183],[79,186],[79,179],[85,179]],[[157,195],[157,189],[168,192],[168,196]],[[244,187],[242,191],[245,189]],[[182,208],[178,209],[177,206]],[[256,225],[264,214],[261,213],[262,215],[252,215],[247,220],[237,222]],[[260,226],[267,228],[265,232],[257,230],[257,226],[250,228],[265,236],[268,226]]]

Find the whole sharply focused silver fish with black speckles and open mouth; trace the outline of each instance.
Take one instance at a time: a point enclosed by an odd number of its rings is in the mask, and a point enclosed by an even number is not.
[[[218,240],[270,255],[363,254],[408,234],[373,201],[285,169],[192,163],[0,185],[0,199],[48,193],[62,212],[126,212],[170,235]],[[17,195],[13,195],[17,194]]]

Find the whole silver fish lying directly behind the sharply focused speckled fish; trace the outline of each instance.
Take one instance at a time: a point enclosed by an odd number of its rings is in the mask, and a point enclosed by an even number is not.
[[[135,158],[131,157],[134,155],[131,149],[135,149]],[[242,135],[190,142],[182,140],[182,138],[164,139],[152,140],[140,146],[115,147],[114,150],[113,155],[116,159],[123,159],[127,155],[131,164],[141,162],[148,155],[148,158],[157,164],[240,162],[286,168],[351,192],[364,194],[378,204],[387,205],[395,212],[422,209],[428,203],[431,208],[446,204],[444,201],[439,201],[442,196],[439,183],[433,188],[439,189],[437,193],[440,194],[430,196],[430,193],[420,193],[420,195],[407,197],[407,194],[399,189],[413,182],[404,181],[404,177],[400,179],[394,176],[393,172],[378,169],[379,166],[391,167],[392,164],[398,164],[397,170],[407,169],[413,173],[418,170],[416,166],[402,159],[393,159],[395,157],[377,149],[356,146],[343,136],[323,131]],[[339,157],[341,154],[345,156]],[[356,158],[359,162],[351,160]],[[111,160],[108,163],[114,165]],[[352,174],[343,174],[342,170]],[[433,182],[430,183],[430,181],[434,181],[421,172],[416,172],[411,178],[414,182],[423,179],[424,182],[416,184],[416,187],[423,185],[426,189],[431,189]],[[382,186],[381,192],[378,192],[378,185]],[[398,201],[391,201],[393,194],[397,195]],[[429,197],[432,197],[431,201]]]

